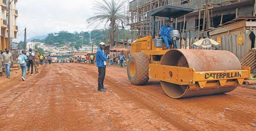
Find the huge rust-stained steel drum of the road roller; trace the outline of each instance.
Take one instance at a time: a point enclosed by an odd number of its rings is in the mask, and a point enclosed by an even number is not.
[[[241,70],[239,59],[226,50],[172,49],[164,54],[161,65],[194,68],[196,71]],[[172,98],[184,98],[226,93],[236,87],[189,90],[189,85],[178,85],[161,81],[164,92]]]

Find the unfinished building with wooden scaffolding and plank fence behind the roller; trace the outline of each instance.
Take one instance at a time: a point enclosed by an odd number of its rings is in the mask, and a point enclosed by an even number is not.
[[[133,40],[151,35],[153,17],[147,12],[165,5],[194,9],[179,18],[170,18],[173,28],[181,32],[181,48],[211,38],[221,44],[219,49],[234,53],[241,61],[252,56],[249,54],[256,44],[255,0],[133,0],[127,16]],[[156,17],[156,35],[167,19]],[[252,68],[256,67],[256,60],[252,60],[255,58],[248,59]]]

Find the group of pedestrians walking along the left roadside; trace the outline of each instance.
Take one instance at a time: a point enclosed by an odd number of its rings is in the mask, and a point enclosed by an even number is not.
[[[33,75],[33,69],[35,69],[35,73],[39,73],[39,64],[43,65],[45,59],[49,64],[51,64],[51,56],[48,57],[40,55],[37,50],[32,51],[32,48],[29,49],[28,52],[22,50],[22,54],[18,56],[17,63],[20,64],[22,80],[25,81],[25,75],[27,72],[31,72]],[[13,58],[9,48],[5,49],[5,52],[2,54],[2,65],[5,66],[7,78],[10,78],[10,68],[13,66]],[[30,70],[31,68],[31,70]]]

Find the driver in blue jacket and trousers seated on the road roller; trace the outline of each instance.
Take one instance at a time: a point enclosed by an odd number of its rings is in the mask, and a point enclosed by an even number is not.
[[[172,42],[172,38],[170,35],[171,35],[171,32],[173,31],[173,28],[171,27],[171,25],[172,25],[172,21],[167,20],[167,24],[161,27],[158,34],[159,37],[163,39],[165,47],[167,47],[167,49],[170,49],[169,41]]]

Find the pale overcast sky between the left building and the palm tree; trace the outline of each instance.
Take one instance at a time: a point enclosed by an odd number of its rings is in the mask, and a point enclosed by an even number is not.
[[[22,31],[25,27],[30,30],[27,31],[27,38],[61,30],[80,32],[94,29],[96,25],[88,27],[89,24],[86,22],[96,13],[93,10],[93,1],[19,0],[17,3],[19,32],[18,39],[14,39],[14,41],[24,40]]]

